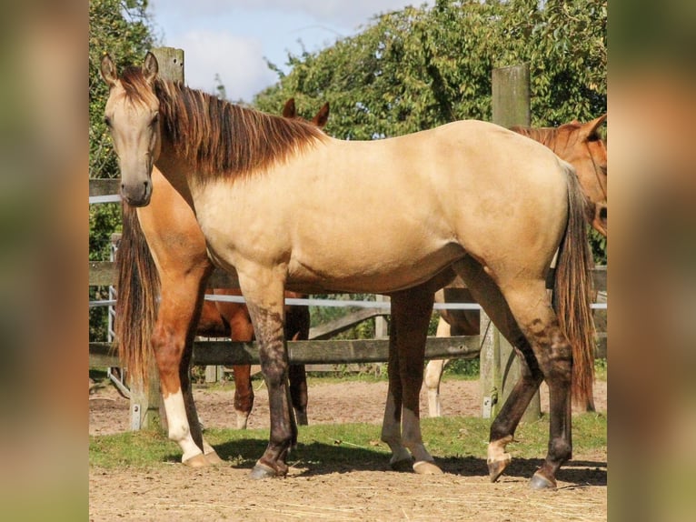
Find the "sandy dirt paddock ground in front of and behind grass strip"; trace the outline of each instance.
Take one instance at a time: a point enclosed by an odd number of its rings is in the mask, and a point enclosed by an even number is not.
[[[310,386],[310,424],[381,424],[386,383],[346,382]],[[321,388],[321,389],[319,389]],[[477,381],[442,383],[442,415],[480,415]],[[197,389],[196,404],[206,427],[233,427],[232,391]],[[425,393],[421,408],[427,412]],[[606,411],[606,382],[595,385],[595,405]],[[542,389],[542,410],[548,393]],[[425,416],[427,414],[423,414]],[[129,405],[113,386],[90,394],[90,435],[128,429]],[[256,391],[250,428],[268,427],[265,389]],[[606,452],[574,455],[559,488],[532,492],[527,480],[540,459],[513,459],[506,475],[491,484],[485,461],[462,459],[440,476],[291,467],[285,479],[253,482],[247,469],[232,465],[189,469],[167,464],[148,470],[90,468],[90,520],[606,520]],[[384,466],[385,467],[385,466]],[[560,474],[561,475],[561,474]],[[563,479],[569,482],[564,482]]]

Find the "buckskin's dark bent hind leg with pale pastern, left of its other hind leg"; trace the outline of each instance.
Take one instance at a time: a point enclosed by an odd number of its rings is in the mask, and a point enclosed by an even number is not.
[[[474,299],[483,306],[495,326],[514,346],[521,361],[520,379],[512,388],[510,396],[491,425],[488,470],[494,482],[510,464],[511,456],[505,452],[505,447],[512,442],[515,429],[520,424],[524,411],[542,384],[543,375],[529,342],[522,335],[507,301],[491,276],[488,276],[482,266],[469,256],[455,265],[455,269],[466,281]]]

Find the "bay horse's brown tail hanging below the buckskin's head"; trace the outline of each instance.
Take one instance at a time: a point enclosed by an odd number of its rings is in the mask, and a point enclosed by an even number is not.
[[[135,208],[123,202],[123,216],[114,332],[121,363],[132,379],[146,382],[160,280]]]

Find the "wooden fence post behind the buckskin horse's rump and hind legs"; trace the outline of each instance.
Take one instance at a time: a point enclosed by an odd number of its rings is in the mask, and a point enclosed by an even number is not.
[[[530,74],[529,65],[512,65],[492,70],[492,119],[494,124],[511,127],[529,126]],[[485,318],[485,325],[484,325]],[[520,362],[507,339],[491,325],[492,332],[484,338],[488,316],[482,314],[481,386],[483,417],[494,417],[510,396],[520,377]],[[486,342],[487,341],[487,342]],[[524,413],[522,421],[538,420],[542,415],[539,392]]]

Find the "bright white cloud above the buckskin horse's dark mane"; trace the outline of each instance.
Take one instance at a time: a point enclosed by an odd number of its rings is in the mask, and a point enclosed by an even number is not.
[[[219,75],[229,99],[251,101],[254,94],[277,79],[263,61],[259,40],[189,31],[178,43],[186,51],[186,84],[195,89],[214,92],[215,75]]]

